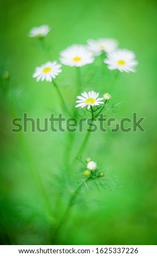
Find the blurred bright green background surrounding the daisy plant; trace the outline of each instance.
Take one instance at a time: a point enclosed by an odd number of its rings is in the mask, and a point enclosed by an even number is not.
[[[52,84],[32,78],[35,67],[58,59],[69,45],[86,44],[89,38],[115,38],[120,48],[134,51],[139,61],[136,73],[120,74],[109,91],[112,103],[122,102],[115,117],[120,120],[137,112],[138,117],[146,117],[146,132],[91,135],[82,158],[91,156],[102,163],[117,186],[109,181],[111,189],[84,188],[55,243],[156,245],[157,4],[152,0],[10,0],[1,2],[1,11],[1,244],[50,244],[80,175],[79,162],[71,172],[64,172],[66,133],[11,132],[12,117],[25,112],[43,119],[61,111]],[[41,51],[36,40],[28,37],[32,27],[43,24],[51,28],[45,38],[50,51]],[[57,83],[73,109],[75,68],[62,69]],[[89,69],[90,65],[82,68],[84,77]],[[9,82],[5,71],[9,71]],[[104,69],[100,84],[91,76],[83,90],[106,92],[112,74]],[[83,137],[84,133],[76,135],[71,156]]]

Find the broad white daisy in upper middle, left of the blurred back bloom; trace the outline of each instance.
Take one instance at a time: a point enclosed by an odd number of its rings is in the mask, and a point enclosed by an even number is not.
[[[61,63],[68,66],[83,66],[94,62],[93,54],[83,45],[71,45],[60,55]]]

